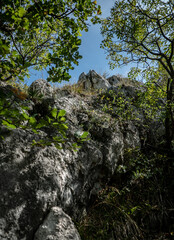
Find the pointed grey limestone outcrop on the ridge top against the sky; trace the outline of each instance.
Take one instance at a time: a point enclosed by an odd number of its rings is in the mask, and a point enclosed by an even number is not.
[[[107,89],[111,87],[110,83],[94,70],[90,70],[88,74],[83,72],[79,76],[78,84],[82,85],[85,90]]]

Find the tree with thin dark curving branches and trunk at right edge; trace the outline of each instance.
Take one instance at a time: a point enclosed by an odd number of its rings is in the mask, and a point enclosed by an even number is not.
[[[171,149],[174,137],[174,1],[117,0],[111,15],[102,22],[104,40],[111,67],[130,62],[143,63],[166,80],[166,142]]]

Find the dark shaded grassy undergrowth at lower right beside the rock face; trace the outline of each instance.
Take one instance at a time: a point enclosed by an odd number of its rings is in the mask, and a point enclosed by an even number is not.
[[[173,174],[165,153],[129,149],[78,224],[82,240],[173,239]]]

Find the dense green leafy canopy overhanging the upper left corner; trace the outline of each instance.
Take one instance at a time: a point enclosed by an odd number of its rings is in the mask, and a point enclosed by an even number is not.
[[[23,80],[31,67],[68,80],[81,58],[80,32],[99,9],[91,0],[1,0],[0,80]]]

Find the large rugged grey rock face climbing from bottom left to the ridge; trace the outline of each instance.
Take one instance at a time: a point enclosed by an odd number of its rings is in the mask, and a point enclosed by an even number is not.
[[[86,88],[110,87],[94,71],[82,74],[79,82]],[[53,89],[48,89],[50,96]],[[1,240],[79,240],[71,218],[78,220],[86,213],[91,199],[124,161],[124,151],[141,145],[138,127],[108,118],[95,98],[54,96],[52,104],[66,110],[69,126],[62,150],[54,144],[33,146],[38,135],[30,130],[7,131],[0,140]],[[86,130],[90,140],[73,151],[72,139]]]

